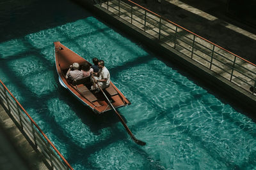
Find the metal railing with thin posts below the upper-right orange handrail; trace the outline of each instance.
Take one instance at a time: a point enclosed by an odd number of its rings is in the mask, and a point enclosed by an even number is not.
[[[139,4],[124,1],[101,1],[99,5],[244,90],[255,89],[255,64]]]

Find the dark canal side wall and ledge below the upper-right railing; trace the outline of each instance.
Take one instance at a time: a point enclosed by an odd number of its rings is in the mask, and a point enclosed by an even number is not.
[[[231,99],[234,103],[239,104],[244,110],[254,113],[256,106],[256,96],[250,94],[246,90],[238,87],[234,83],[226,80],[220,75],[214,73],[210,69],[202,66],[195,60],[189,59],[186,55],[178,52],[168,45],[164,45],[158,39],[150,36],[149,34],[141,31],[129,22],[126,22],[122,18],[118,18],[107,10],[100,8],[92,3],[92,1],[86,0],[72,0],[77,4],[84,6],[84,8],[90,10],[94,15],[99,17],[104,22],[113,25],[116,29],[128,34],[131,37],[136,37],[136,41],[140,41],[143,45],[147,46],[152,52],[167,59],[175,66],[180,67],[187,73],[195,76],[198,80],[203,81],[204,84],[212,89],[223,94],[227,99]]]

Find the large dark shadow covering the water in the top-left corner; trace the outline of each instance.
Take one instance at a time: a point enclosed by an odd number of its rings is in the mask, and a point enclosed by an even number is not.
[[[0,6],[0,42],[90,17],[71,1],[10,1]]]

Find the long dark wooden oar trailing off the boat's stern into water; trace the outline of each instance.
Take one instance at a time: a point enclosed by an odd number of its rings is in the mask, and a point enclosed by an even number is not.
[[[93,80],[95,81],[94,76],[92,75]],[[127,125],[125,124],[123,118],[120,116],[120,114],[115,110],[115,107],[112,105],[112,103],[109,101],[108,97],[106,96],[106,94],[104,93],[104,91],[101,89],[101,87],[99,86],[99,83],[97,81],[97,85],[99,87],[99,89],[101,90],[101,92],[104,94],[104,96],[106,97],[106,99],[108,100],[110,106],[113,108],[113,110],[115,111],[117,117],[119,118],[120,122],[124,125],[126,131],[129,133],[129,135],[131,136],[131,138],[134,140],[134,142],[136,142],[138,145],[146,145],[145,142],[140,141],[139,139],[136,139],[135,136],[132,134],[132,132],[130,131],[129,127],[127,127]]]

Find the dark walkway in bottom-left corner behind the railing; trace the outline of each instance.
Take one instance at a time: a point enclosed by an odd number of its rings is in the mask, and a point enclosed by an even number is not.
[[[0,169],[48,169],[0,104]]]

